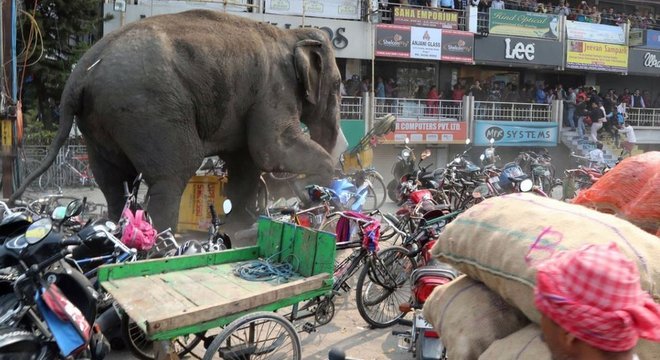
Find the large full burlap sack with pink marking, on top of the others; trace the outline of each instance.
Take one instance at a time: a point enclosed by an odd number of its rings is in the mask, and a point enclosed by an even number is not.
[[[660,239],[612,215],[532,194],[473,206],[447,225],[431,253],[538,323],[534,265],[557,251],[611,242],[637,262],[642,288],[658,301]]]

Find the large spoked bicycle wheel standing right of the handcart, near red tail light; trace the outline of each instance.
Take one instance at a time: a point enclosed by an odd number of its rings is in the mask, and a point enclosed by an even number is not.
[[[405,314],[399,305],[410,301],[410,276],[417,267],[410,253],[403,247],[393,246],[362,269],[356,291],[360,316],[374,328],[394,325]]]

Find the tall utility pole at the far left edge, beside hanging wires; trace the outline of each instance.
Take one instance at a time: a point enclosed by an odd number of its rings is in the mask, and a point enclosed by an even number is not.
[[[16,0],[3,1],[0,15],[0,38],[2,38],[2,91],[0,106],[0,144],[2,149],[2,197],[9,198],[13,192],[14,162],[16,159]]]

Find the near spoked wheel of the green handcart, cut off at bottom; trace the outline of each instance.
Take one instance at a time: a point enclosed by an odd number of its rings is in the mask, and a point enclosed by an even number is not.
[[[300,338],[289,320],[271,312],[255,312],[227,325],[209,345],[203,360],[300,360]]]

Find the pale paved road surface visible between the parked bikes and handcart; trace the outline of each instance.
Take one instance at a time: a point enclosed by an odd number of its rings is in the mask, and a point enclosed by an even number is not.
[[[103,194],[98,189],[64,189],[64,195],[86,196],[89,201],[104,204]],[[393,211],[394,204],[386,203],[384,211]],[[320,327],[312,334],[302,333],[301,341],[304,359],[327,359],[333,347],[343,349],[348,356],[360,359],[411,359],[412,355],[397,348],[397,338],[392,330],[405,330],[403,326],[372,330],[360,317],[355,306],[355,292],[336,299],[336,315],[329,324]],[[202,355],[203,348],[195,351]],[[187,358],[194,358],[189,356]],[[136,359],[128,351],[114,351],[110,360]]]

